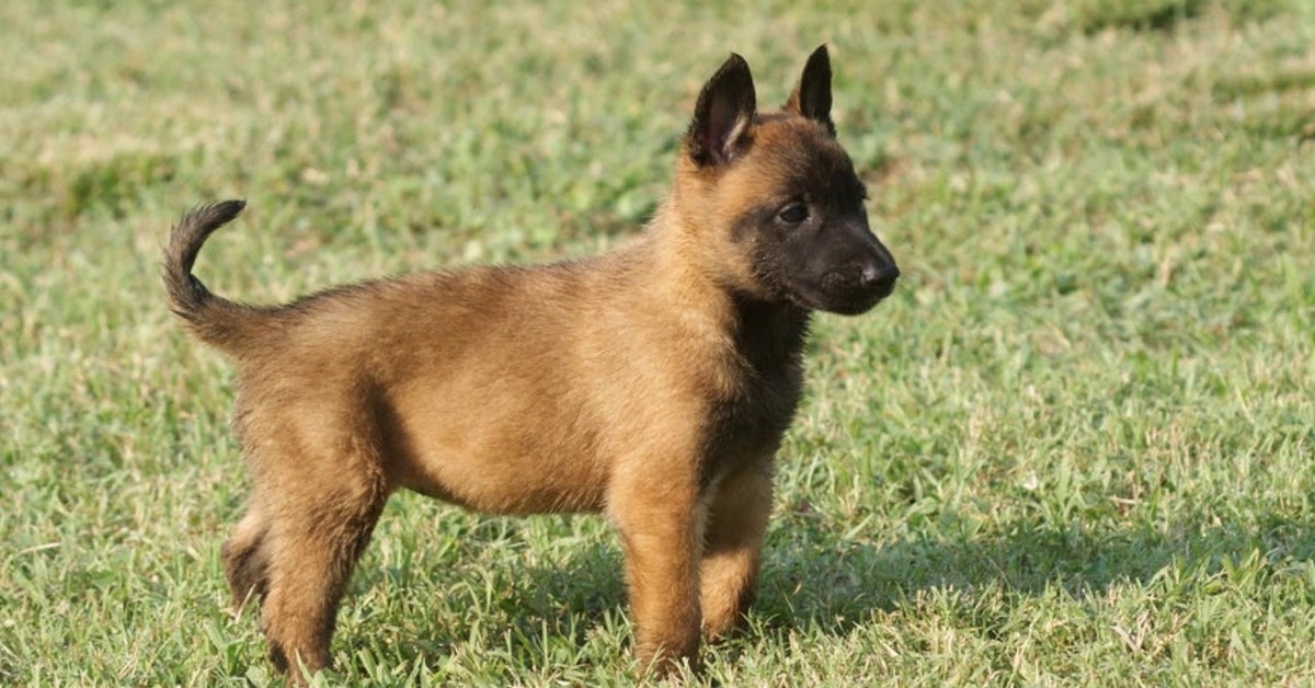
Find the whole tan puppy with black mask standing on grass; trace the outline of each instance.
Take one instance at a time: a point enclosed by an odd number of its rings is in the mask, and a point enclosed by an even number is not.
[[[235,605],[262,600],[279,670],[330,666],[339,599],[401,488],[490,513],[606,513],[646,667],[697,663],[701,634],[732,630],[756,593],[810,313],[863,313],[899,275],[830,111],[826,46],[769,112],[732,54],[646,232],[584,260],[251,307],[191,274],[243,203],[174,228],[172,309],[238,362],[252,492],[224,568]]]

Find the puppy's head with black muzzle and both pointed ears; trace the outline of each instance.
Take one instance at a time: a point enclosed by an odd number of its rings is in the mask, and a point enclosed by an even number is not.
[[[785,105],[764,113],[732,54],[698,95],[679,170],[684,222],[732,288],[843,314],[894,289],[899,270],[868,228],[867,191],[835,139],[826,46]]]

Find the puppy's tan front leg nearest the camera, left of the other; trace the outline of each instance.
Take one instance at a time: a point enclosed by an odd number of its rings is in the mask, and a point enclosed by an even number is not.
[[[608,501],[626,555],[635,656],[658,675],[698,663],[704,514],[693,466],[671,472],[618,471]]]

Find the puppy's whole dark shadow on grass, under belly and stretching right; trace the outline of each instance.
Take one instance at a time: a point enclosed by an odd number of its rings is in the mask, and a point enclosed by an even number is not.
[[[788,514],[773,522],[748,629],[726,651],[734,655],[759,643],[788,642],[801,631],[843,637],[877,622],[874,616],[923,604],[926,596],[957,596],[970,608],[976,596],[1002,595],[1007,605],[1016,604],[1010,599],[1056,588],[1077,597],[1099,596],[1112,585],[1220,571],[1257,555],[1270,562],[1315,559],[1308,525],[1265,516],[1247,525],[1215,520],[1103,530],[1081,522],[1047,528],[1028,521],[995,528],[999,534],[884,543],[864,534],[838,537],[817,521]],[[569,663],[572,647],[575,658],[588,663],[589,646],[600,635],[605,646],[614,645],[618,635],[629,645],[626,587],[615,541],[581,543],[564,553],[551,564],[509,564],[502,577],[510,588],[500,595],[510,608],[497,622],[505,627],[485,633],[513,638],[521,650],[510,651],[506,659],[522,670],[551,671],[548,664]],[[416,575],[462,574],[434,570]],[[358,584],[373,585],[371,579],[379,576],[359,576],[364,580]],[[408,664],[418,659],[438,668],[477,624],[467,620],[460,627],[416,629],[447,637],[412,638],[397,651]],[[543,651],[548,647],[565,647],[567,656]]]

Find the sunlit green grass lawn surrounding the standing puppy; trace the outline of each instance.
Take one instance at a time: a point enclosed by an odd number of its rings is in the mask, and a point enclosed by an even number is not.
[[[772,103],[822,41],[905,278],[818,318],[701,680],[1315,681],[1310,3],[183,5],[0,4],[0,683],[272,680],[231,367],[156,279],[184,209],[251,203],[199,271],[258,301],[590,254],[729,51]],[[400,496],[325,680],[626,684],[618,566],[598,518]]]

